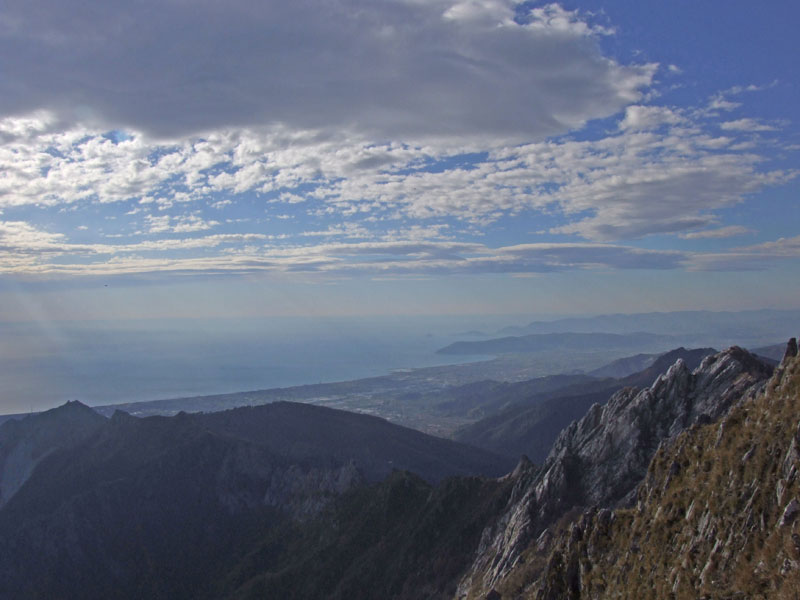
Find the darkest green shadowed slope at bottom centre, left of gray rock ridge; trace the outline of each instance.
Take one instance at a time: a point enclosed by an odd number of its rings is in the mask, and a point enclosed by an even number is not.
[[[224,597],[451,598],[509,491],[507,480],[459,477],[432,487],[395,472],[346,494],[314,523],[254,545],[231,571]],[[271,559],[282,540],[281,558]]]

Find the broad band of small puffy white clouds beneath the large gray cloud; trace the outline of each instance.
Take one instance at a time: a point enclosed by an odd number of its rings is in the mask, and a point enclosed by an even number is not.
[[[460,153],[476,148],[285,128],[168,145],[136,133],[115,143],[101,132],[36,130],[0,146],[0,206],[138,199],[164,213],[147,217],[151,233],[188,233],[219,225],[195,208],[221,210],[241,194],[261,193],[302,209],[269,215],[276,219],[338,215],[366,226],[368,219],[429,225],[447,218],[485,226],[546,212],[562,217],[553,233],[594,241],[680,234],[713,225],[715,211],[797,174],[766,170],[761,142],[739,141],[734,130],[713,135],[712,127],[702,111],[634,105],[605,137],[484,147],[486,159],[466,164]],[[168,217],[182,204],[195,216]]]

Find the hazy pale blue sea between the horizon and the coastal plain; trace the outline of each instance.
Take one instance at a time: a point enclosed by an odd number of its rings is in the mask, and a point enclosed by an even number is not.
[[[287,387],[468,362],[435,351],[503,317],[0,323],[3,413]],[[520,321],[524,322],[524,321]],[[467,338],[468,339],[468,338]]]

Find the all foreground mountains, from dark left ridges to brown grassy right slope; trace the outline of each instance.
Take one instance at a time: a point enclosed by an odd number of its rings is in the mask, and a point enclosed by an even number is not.
[[[722,598],[736,573],[743,597],[796,589],[796,342],[774,374],[732,347],[575,377],[443,400],[605,396],[535,463],[288,402],[6,422],[0,598]]]

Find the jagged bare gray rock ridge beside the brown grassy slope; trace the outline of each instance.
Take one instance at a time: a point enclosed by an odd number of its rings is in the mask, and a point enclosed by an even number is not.
[[[495,587],[521,552],[568,511],[631,504],[661,443],[694,423],[720,418],[761,389],[770,374],[734,346],[706,357],[694,372],[678,360],[649,388],[626,388],[605,405],[595,404],[561,433],[541,469],[517,475],[518,489],[504,516],[485,532],[486,551],[462,580],[459,595]]]

